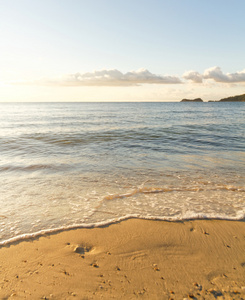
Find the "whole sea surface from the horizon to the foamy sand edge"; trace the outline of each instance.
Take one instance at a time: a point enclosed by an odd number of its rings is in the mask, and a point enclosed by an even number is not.
[[[0,103],[0,242],[245,217],[245,103]]]

